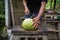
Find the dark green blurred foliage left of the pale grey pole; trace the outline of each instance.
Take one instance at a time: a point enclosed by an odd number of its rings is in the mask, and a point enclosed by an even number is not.
[[[0,34],[5,26],[5,7],[4,0],[0,0]]]

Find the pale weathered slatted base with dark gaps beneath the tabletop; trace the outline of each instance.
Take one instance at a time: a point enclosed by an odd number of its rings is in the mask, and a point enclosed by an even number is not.
[[[48,40],[47,35],[13,35],[13,40],[38,40],[38,38]]]

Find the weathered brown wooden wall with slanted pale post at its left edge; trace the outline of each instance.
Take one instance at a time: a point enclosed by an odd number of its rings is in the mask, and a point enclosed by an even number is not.
[[[24,14],[22,0],[10,0],[13,26],[21,24],[20,17]]]

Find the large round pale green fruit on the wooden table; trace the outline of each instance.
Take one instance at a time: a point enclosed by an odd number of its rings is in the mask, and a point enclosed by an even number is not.
[[[27,18],[22,22],[22,28],[25,30],[35,30],[33,25],[33,19]]]

